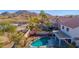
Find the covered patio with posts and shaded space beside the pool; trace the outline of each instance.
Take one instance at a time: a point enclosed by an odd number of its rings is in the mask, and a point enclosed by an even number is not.
[[[54,32],[55,40],[58,40],[58,47],[65,47],[65,45],[71,45],[71,37],[63,33],[62,31]]]

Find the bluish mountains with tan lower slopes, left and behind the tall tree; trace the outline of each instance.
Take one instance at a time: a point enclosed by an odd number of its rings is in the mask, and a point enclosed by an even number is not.
[[[49,18],[52,18],[52,15],[50,14],[46,14]],[[39,16],[38,13],[35,13],[35,12],[30,12],[28,10],[18,10],[14,13],[10,13],[10,12],[3,12],[0,14],[0,18],[2,19],[6,19],[6,18],[15,18],[15,19],[18,19],[18,20],[25,20],[27,19],[28,17],[36,17],[36,16]]]

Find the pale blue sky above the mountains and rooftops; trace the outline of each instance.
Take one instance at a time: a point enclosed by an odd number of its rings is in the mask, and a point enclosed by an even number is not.
[[[18,10],[0,10],[0,13],[2,12],[16,12]],[[29,10],[30,12],[36,12],[40,13],[40,10]],[[79,15],[79,10],[44,10],[46,13],[51,15],[58,15],[58,16],[64,16],[64,15]]]

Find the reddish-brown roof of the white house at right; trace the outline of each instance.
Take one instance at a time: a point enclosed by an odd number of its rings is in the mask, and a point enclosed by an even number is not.
[[[68,26],[70,28],[79,27],[79,17],[64,18],[61,24]]]

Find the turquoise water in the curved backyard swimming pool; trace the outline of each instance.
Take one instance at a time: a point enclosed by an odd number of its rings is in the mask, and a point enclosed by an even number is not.
[[[49,39],[50,39],[49,37],[39,38],[32,43],[32,46],[35,46],[35,47],[45,46],[48,43]]]

